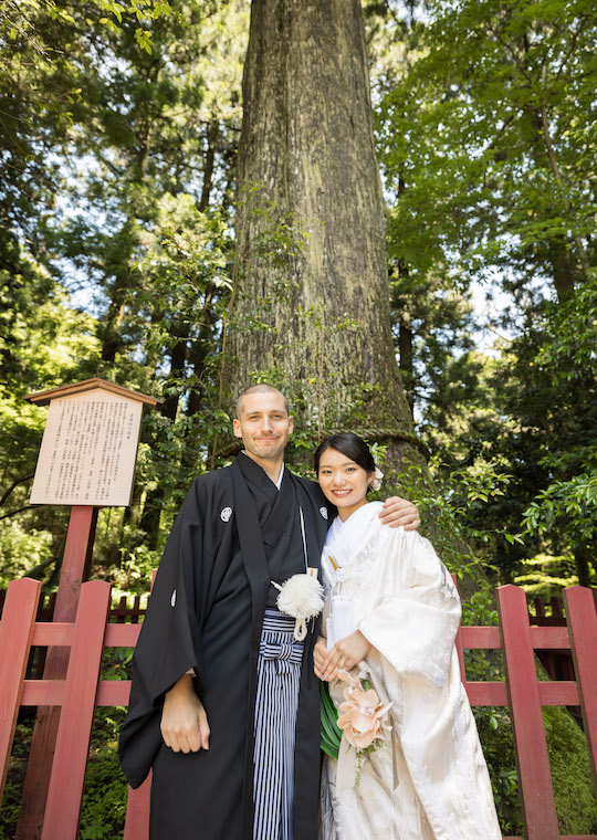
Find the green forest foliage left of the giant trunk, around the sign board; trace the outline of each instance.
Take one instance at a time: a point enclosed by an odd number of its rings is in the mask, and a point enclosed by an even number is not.
[[[20,533],[39,533],[41,561],[60,557],[65,523],[22,510],[44,420],[23,403],[28,391],[98,374],[165,397],[163,417],[144,423],[137,507],[115,512],[95,545],[95,571],[135,586],[155,560],[164,497],[167,527],[224,422],[217,365],[247,22],[245,4],[217,0],[31,0],[0,11],[10,155],[0,187],[0,516],[27,517]],[[1,534],[7,577],[31,568],[24,539]],[[50,584],[56,570],[46,567]]]

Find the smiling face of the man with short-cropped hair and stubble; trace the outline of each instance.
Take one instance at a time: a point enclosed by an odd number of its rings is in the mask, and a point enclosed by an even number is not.
[[[292,432],[292,417],[280,391],[247,393],[240,413],[233,421],[234,434],[242,438],[247,454],[254,461],[280,459]]]

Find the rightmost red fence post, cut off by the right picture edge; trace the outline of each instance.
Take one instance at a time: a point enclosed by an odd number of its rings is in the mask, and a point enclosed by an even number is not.
[[[597,795],[597,612],[591,589],[570,586],[564,590],[564,598],[593,784]]]

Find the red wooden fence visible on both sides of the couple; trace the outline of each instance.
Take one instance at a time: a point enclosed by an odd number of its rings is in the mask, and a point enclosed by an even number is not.
[[[83,584],[75,623],[35,621],[40,584],[21,579],[9,586],[0,622],[0,763],[3,790],[20,705],[61,706],[56,750],[42,840],[75,840],[95,706],[126,705],[129,683],[100,679],[104,648],[134,647],[139,627],[107,621],[109,585]],[[567,628],[532,627],[526,597],[515,586],[498,589],[500,627],[463,627],[457,648],[462,679],[473,706],[510,706],[527,840],[561,838],[541,708],[579,706],[597,787],[597,615],[593,594],[583,587],[565,592]],[[70,647],[65,680],[28,680],[31,645]],[[505,682],[469,682],[464,649],[501,649]],[[576,681],[538,682],[534,651],[572,650]],[[124,840],[147,840],[149,781],[129,790]],[[454,839],[455,840],[455,839]]]

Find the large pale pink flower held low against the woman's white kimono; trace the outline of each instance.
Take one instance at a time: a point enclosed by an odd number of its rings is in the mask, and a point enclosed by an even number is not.
[[[346,702],[338,707],[338,726],[352,746],[367,749],[384,736],[384,717],[392,703],[380,703],[376,691],[364,691],[360,680],[352,678],[347,671],[339,671],[338,676],[349,683],[344,690]]]

